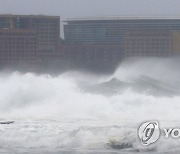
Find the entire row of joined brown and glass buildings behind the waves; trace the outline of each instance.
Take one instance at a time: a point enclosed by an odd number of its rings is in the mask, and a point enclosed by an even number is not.
[[[180,18],[0,15],[0,66],[113,70],[127,57],[180,54]]]

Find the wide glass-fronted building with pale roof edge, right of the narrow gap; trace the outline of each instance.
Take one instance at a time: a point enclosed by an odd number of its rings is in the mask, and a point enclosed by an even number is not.
[[[64,35],[70,45],[119,45],[123,57],[180,53],[180,18],[72,19],[66,21]]]

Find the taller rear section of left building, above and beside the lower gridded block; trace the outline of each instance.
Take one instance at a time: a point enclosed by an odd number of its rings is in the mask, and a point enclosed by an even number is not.
[[[60,17],[43,15],[0,15],[0,29],[33,30],[38,50],[54,52],[60,40]]]

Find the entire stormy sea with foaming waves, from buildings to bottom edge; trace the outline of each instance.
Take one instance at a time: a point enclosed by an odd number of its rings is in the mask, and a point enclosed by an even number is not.
[[[3,154],[180,153],[179,138],[141,144],[152,120],[180,127],[180,58],[129,59],[111,75],[0,73]]]

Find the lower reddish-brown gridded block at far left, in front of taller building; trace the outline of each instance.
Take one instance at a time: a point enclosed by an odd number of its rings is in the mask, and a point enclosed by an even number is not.
[[[36,67],[37,38],[30,30],[0,29],[0,67]]]

